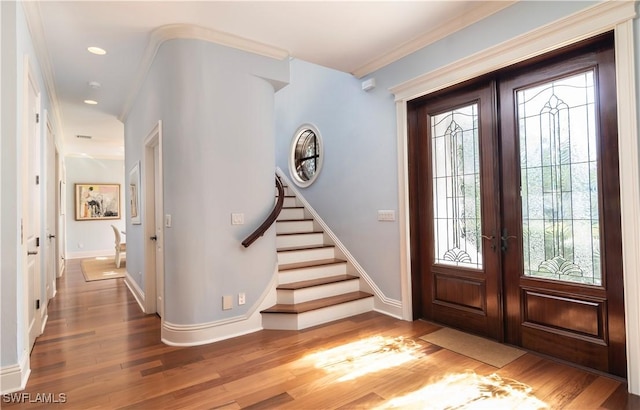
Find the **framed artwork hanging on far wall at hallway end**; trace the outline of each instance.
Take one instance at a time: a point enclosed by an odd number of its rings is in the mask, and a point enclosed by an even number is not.
[[[76,184],[76,221],[120,219],[120,184]]]

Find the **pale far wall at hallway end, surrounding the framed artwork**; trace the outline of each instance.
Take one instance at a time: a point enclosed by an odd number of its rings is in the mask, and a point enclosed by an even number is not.
[[[66,259],[114,255],[111,225],[125,229],[124,160],[66,157]],[[120,218],[100,221],[76,221],[75,184],[120,184]],[[126,237],[123,238],[126,240]]]

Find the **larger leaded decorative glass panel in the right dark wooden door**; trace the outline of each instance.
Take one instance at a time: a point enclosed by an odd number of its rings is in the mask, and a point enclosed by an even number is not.
[[[524,274],[600,285],[594,73],[516,98]]]

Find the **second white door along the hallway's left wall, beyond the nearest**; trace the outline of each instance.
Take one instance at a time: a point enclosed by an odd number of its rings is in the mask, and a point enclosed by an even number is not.
[[[44,242],[44,253],[46,257],[46,285],[45,292],[47,300],[53,298],[56,293],[57,276],[57,215],[58,198],[56,195],[58,180],[56,178],[57,154],[56,145],[49,121],[46,123],[47,151],[46,151],[46,171],[44,174],[47,184],[47,195],[44,201],[46,207],[46,238]]]

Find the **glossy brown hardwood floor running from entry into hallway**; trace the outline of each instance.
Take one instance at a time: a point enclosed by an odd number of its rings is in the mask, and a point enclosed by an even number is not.
[[[439,328],[370,312],[303,331],[264,330],[172,347],[160,342],[160,319],[140,312],[123,279],[85,282],[79,261],[69,261],[31,355],[27,388],[2,396],[1,405],[640,408],[640,397],[613,378],[529,353],[498,369],[419,339]],[[488,400],[495,405],[487,406]]]

